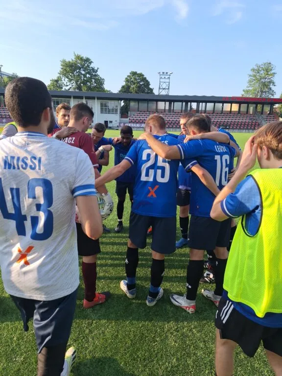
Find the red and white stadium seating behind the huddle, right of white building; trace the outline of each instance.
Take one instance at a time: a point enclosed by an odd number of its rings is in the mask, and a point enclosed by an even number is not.
[[[151,112],[136,112],[129,118],[129,123],[144,123],[153,113]],[[160,113],[165,118],[168,128],[179,128],[179,120],[181,113]],[[212,119],[212,124],[216,127],[224,127],[228,129],[237,130],[255,130],[258,129],[260,123],[258,118],[254,115],[244,114],[209,114]],[[274,115],[264,116],[267,122],[275,120]]]

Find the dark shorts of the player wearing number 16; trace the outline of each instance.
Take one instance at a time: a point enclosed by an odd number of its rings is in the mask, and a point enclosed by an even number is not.
[[[211,217],[191,215],[188,247],[201,250],[228,247],[230,229],[231,218],[218,222]]]

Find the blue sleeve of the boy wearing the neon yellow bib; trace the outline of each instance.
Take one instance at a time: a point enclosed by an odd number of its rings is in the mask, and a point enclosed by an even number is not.
[[[250,213],[261,206],[257,184],[252,176],[247,176],[238,184],[234,193],[221,201],[221,210],[231,218]]]

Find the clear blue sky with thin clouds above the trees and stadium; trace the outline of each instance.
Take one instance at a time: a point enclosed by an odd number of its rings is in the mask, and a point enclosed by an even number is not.
[[[61,59],[88,56],[116,93],[130,71],[158,93],[241,95],[257,63],[276,66],[282,92],[282,0],[0,0],[2,70],[41,79]]]

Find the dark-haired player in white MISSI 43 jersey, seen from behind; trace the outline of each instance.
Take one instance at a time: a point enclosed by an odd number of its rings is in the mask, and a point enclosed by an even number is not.
[[[33,318],[37,375],[68,376],[79,285],[75,200],[83,231],[93,239],[102,234],[93,167],[83,151],[47,138],[54,115],[42,81],[14,79],[5,102],[19,132],[0,142],[1,276],[25,331]]]

